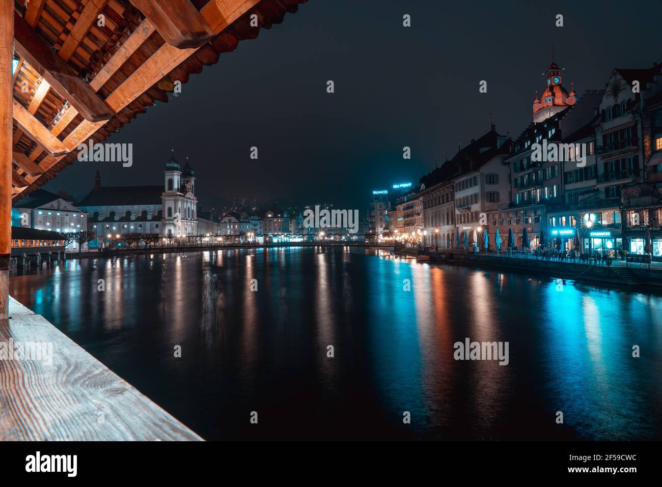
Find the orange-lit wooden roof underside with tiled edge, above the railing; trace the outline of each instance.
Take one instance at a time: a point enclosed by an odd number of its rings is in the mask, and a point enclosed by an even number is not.
[[[19,56],[13,199],[73,163],[79,144],[103,142],[156,101],[167,103],[175,83],[187,83],[305,1],[12,2]]]

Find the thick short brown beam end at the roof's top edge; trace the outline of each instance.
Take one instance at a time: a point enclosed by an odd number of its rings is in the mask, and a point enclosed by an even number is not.
[[[197,48],[214,36],[214,32],[189,0],[130,2],[150,19],[167,44],[175,48]]]

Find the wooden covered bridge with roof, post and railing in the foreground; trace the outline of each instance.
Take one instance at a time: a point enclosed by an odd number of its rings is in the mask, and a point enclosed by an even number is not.
[[[0,341],[59,347],[54,367],[0,361],[0,440],[199,439],[9,298],[11,204],[71,164],[79,144],[166,102],[175,85],[305,1],[0,0]],[[113,425],[93,427],[95,404],[113,409]]]

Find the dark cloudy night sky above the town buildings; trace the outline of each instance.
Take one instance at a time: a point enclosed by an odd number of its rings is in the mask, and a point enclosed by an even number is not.
[[[458,137],[464,146],[487,132],[490,112],[498,132],[517,136],[552,44],[563,86],[580,95],[614,67],[662,62],[661,16],[658,0],[309,0],[107,140],[133,144],[132,167],[75,162],[46,189],[83,197],[96,169],[102,185],[160,184],[174,145],[180,162],[189,154],[205,209],[243,196],[363,214],[373,189],[416,183]]]

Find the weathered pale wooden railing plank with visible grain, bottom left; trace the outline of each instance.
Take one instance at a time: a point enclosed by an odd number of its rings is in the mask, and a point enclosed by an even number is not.
[[[0,341],[44,345],[41,359],[0,360],[0,441],[202,439],[43,316],[13,298],[9,314]]]

